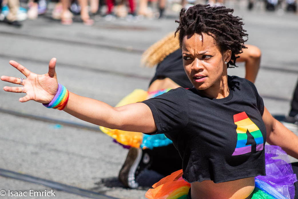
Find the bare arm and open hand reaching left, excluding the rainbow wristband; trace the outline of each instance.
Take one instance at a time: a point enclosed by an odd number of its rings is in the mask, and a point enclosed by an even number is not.
[[[8,87],[3,89],[7,92],[27,93],[19,99],[21,102],[34,100],[40,103],[50,103],[58,90],[57,76],[55,72],[56,59],[51,59],[49,72],[38,75],[30,72],[24,66],[15,61],[10,64],[23,73],[22,87]],[[1,76],[1,80],[14,84],[20,84],[21,80],[15,77]],[[110,129],[151,133],[157,130],[150,108],[143,103],[128,104],[114,108],[104,102],[82,97],[69,92],[69,100],[65,112],[90,123],[104,126]]]

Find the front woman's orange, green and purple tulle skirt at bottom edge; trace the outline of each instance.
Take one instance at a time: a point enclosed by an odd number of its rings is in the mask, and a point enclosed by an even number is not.
[[[294,199],[296,174],[288,155],[279,146],[265,145],[266,176],[255,177],[252,199]],[[190,183],[182,178],[179,170],[162,178],[149,189],[149,199],[188,199]]]

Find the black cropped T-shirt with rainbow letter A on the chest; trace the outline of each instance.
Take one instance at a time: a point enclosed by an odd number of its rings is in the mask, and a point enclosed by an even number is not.
[[[228,76],[230,93],[213,99],[195,88],[177,88],[143,101],[183,159],[189,183],[265,176],[263,99],[252,82]]]

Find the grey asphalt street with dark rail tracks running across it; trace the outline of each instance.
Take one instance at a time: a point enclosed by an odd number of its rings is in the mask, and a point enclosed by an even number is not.
[[[246,1],[226,2],[234,15],[244,19],[248,44],[262,51],[255,85],[272,115],[286,115],[298,79],[298,15],[265,12],[262,3],[245,9]],[[43,74],[57,58],[58,82],[78,95],[115,106],[134,89],[147,90],[154,68],[140,67],[140,58],[150,45],[176,29],[178,13],[160,20],[124,19],[107,22],[95,16],[94,26],[75,21],[63,26],[49,13],[24,21],[20,29],[0,23],[0,76],[24,76],[9,65],[15,60],[34,73]],[[244,76],[243,63],[228,69]],[[11,85],[0,82],[0,87]],[[25,94],[0,89],[0,168],[123,199],[145,198],[145,192],[161,175],[146,171],[139,189],[126,189],[117,180],[128,150],[112,142],[97,126],[63,111],[46,109],[33,101],[21,103]],[[8,114],[5,111],[13,111]],[[36,118],[74,123],[82,128],[58,125]],[[84,129],[85,128],[85,129]],[[296,126],[289,126],[295,133]],[[291,161],[296,161],[291,158]],[[0,177],[0,191],[51,190],[42,184]],[[56,198],[86,198],[58,189]],[[10,198],[10,196],[0,196]],[[26,197],[14,197],[26,198]],[[31,197],[41,198],[41,197]]]

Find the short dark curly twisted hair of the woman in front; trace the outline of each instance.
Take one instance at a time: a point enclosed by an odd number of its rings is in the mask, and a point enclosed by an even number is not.
[[[234,68],[236,66],[236,59],[239,57],[235,55],[242,53],[242,49],[246,48],[244,42],[247,41],[248,34],[242,28],[244,25],[241,21],[242,18],[233,16],[233,12],[233,9],[224,6],[213,7],[202,4],[192,6],[188,10],[182,8],[179,21],[176,20],[179,26],[175,32],[175,36],[176,33],[179,33],[180,47],[182,47],[184,36],[193,35],[194,33],[200,35],[206,33],[215,39],[221,52],[229,49],[232,51],[232,57],[227,67]],[[246,37],[246,40],[243,37]]]

